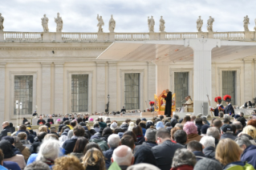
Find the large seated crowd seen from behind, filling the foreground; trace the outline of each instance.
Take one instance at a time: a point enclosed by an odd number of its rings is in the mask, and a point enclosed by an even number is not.
[[[64,119],[36,133],[29,122],[15,131],[3,122],[1,169],[220,170],[256,168],[256,116],[219,112],[154,119]]]

